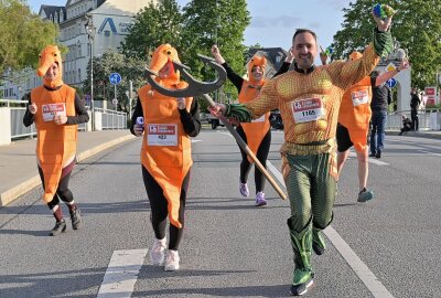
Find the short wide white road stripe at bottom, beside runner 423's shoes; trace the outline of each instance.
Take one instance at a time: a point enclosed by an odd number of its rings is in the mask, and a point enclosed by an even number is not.
[[[129,298],[144,262],[146,249],[115,251],[97,298]]]

